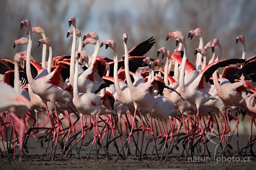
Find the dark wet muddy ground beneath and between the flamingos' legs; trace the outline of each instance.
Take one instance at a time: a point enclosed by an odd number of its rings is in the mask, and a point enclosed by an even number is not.
[[[242,122],[244,123],[244,122]],[[240,126],[239,127],[239,147],[243,147],[247,144],[248,139],[248,132],[247,124],[246,126]],[[250,126],[250,125],[249,125]],[[245,128],[245,129],[243,129]],[[42,135],[42,134],[41,134]],[[41,135],[37,135],[41,136]],[[88,133],[88,136],[86,136],[86,139],[84,139],[84,142],[89,141],[92,138],[93,133]],[[255,135],[255,133],[254,133]],[[149,134],[149,137],[150,134]],[[124,140],[124,139],[122,139]],[[141,146],[141,134],[139,136],[139,144],[138,146]],[[157,145],[159,146],[159,142],[161,139],[157,140]],[[208,142],[209,150],[213,156],[217,140],[213,140],[213,142]],[[104,141],[105,142],[105,141]],[[119,140],[116,140],[116,143],[119,145]],[[145,143],[145,141],[144,141]],[[51,142],[49,143],[51,145]],[[80,146],[79,142],[79,146]],[[22,158],[22,161],[20,162],[19,159],[11,160],[11,164],[9,164],[6,157],[0,157],[0,170],[10,170],[10,169],[17,169],[17,170],[50,170],[50,169],[64,169],[64,170],[81,170],[81,169],[93,169],[93,170],[134,170],[134,169],[185,169],[185,170],[250,170],[255,169],[256,166],[256,159],[254,159],[249,150],[247,150],[246,159],[243,161],[243,156],[240,156],[237,152],[237,145],[236,145],[236,136],[233,136],[231,145],[233,147],[233,150],[230,149],[230,153],[233,155],[230,155],[230,157],[234,156],[233,158],[227,159],[226,161],[217,162],[216,160],[209,161],[208,154],[206,155],[207,161],[200,160],[192,162],[191,159],[185,158],[185,156],[181,156],[183,147],[180,144],[178,144],[179,151],[176,149],[173,149],[172,153],[169,153],[169,159],[167,161],[158,161],[157,155],[154,152],[153,156],[151,156],[151,151],[153,149],[153,143],[149,144],[147,154],[144,155],[144,148],[145,145],[143,145],[143,156],[142,161],[139,161],[139,157],[135,157],[135,146],[133,142],[131,142],[131,155],[128,156],[127,159],[119,158],[116,163],[114,163],[114,159],[116,159],[117,151],[115,147],[113,147],[113,144],[109,147],[109,153],[111,155],[110,160],[108,161],[105,157],[105,154],[102,149],[99,150],[98,154],[98,161],[96,161],[96,149],[95,146],[92,149],[91,155],[89,160],[87,160],[87,154],[90,149],[90,144],[88,146],[82,146],[80,155],[76,155],[76,149],[73,149],[72,157],[70,155],[67,158],[61,159],[61,149],[57,147],[57,155],[55,157],[54,161],[48,161],[48,154],[47,156],[44,156],[44,150],[46,148],[47,142],[44,142],[44,148],[41,148],[38,143],[36,143],[36,140],[30,137],[29,142],[27,144],[29,153]],[[98,147],[99,148],[99,147]],[[253,147],[253,151],[256,153],[256,147]],[[17,149],[18,153],[18,149]],[[159,151],[159,154],[161,155],[162,150]],[[195,152],[196,154],[196,152]],[[201,153],[200,153],[201,154]],[[139,155],[139,153],[137,153]],[[12,156],[12,154],[11,154]],[[190,154],[188,155],[190,157]],[[229,156],[229,155],[226,155]],[[221,160],[221,155],[219,157]],[[234,161],[233,161],[233,160]],[[224,160],[224,159],[223,159]],[[239,161],[238,161],[239,160]]]

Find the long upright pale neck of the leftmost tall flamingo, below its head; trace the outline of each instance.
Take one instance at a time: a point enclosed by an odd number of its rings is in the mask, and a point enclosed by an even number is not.
[[[28,77],[29,84],[32,84],[33,78],[32,73],[30,69],[30,54],[31,54],[31,48],[32,48],[32,29],[29,28],[29,43],[27,47],[27,56],[26,56],[26,74]]]

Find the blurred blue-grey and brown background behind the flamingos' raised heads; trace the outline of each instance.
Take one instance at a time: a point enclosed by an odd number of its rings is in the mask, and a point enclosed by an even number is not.
[[[128,33],[128,49],[154,36],[156,43],[145,54],[156,58],[157,49],[166,47],[173,51],[175,39],[166,42],[171,31],[181,31],[188,45],[189,60],[195,63],[194,51],[199,40],[188,39],[195,28],[203,31],[204,45],[218,38],[222,45],[223,58],[240,58],[242,45],[236,45],[236,37],[243,34],[246,41],[246,58],[256,54],[256,1],[255,0],[3,0],[0,6],[0,51],[1,58],[13,59],[15,53],[26,50],[26,45],[13,49],[13,42],[27,37],[27,29],[20,30],[22,20],[30,20],[32,26],[41,26],[49,37],[53,57],[70,55],[72,36],[66,37],[70,17],[76,17],[76,26],[82,36],[91,31],[99,40],[116,42],[119,59],[124,54],[122,34]],[[41,39],[33,34],[32,56],[41,61]],[[78,45],[78,43],[77,43]],[[83,50],[93,53],[94,46]],[[48,51],[47,51],[48,53]],[[101,48],[99,55],[113,57],[112,50]],[[208,59],[211,51],[207,52]],[[48,56],[48,54],[47,54]],[[207,59],[207,60],[208,60]]]

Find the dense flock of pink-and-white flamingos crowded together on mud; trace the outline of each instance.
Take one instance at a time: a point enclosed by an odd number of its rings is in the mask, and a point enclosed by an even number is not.
[[[43,28],[32,27],[29,20],[23,20],[20,29],[28,29],[29,40],[25,37],[15,40],[13,48],[26,44],[27,50],[15,54],[14,61],[0,59],[0,96],[3,99],[0,103],[0,152],[3,157],[10,161],[12,149],[14,159],[16,147],[19,147],[20,158],[26,156],[29,136],[41,147],[47,143],[44,154],[48,155],[50,147],[49,160],[55,159],[57,147],[61,148],[61,158],[71,154],[73,147],[79,154],[84,139],[88,141],[86,146],[91,143],[87,159],[95,146],[97,160],[99,150],[110,160],[108,147],[112,142],[116,147],[114,161],[119,157],[125,159],[131,154],[131,139],[139,160],[143,149],[146,153],[151,142],[154,144],[152,153],[159,161],[167,160],[173,147],[179,149],[180,142],[186,156],[200,152],[211,156],[207,143],[212,138],[218,140],[218,147],[225,154],[232,149],[233,134],[236,134],[239,149],[238,114],[248,115],[251,120],[248,142],[239,152],[245,149],[245,155],[250,147],[251,155],[255,156],[252,147],[256,140],[252,139],[252,129],[253,124],[256,127],[256,56],[245,59],[243,35],[236,37],[236,43],[241,42],[243,46],[241,58],[221,60],[221,43],[217,38],[204,46],[202,30],[190,31],[191,40],[199,38],[194,66],[188,60],[186,39],[180,31],[170,32],[166,37],[166,41],[176,38],[179,47],[174,52],[165,47],[156,51],[157,57],[161,54],[162,59],[165,58],[163,64],[161,59],[143,56],[154,45],[153,37],[128,51],[128,35],[123,34],[125,54],[118,59],[113,40],[100,44],[96,32],[90,32],[84,34],[82,41],[75,17],[71,17],[68,24],[73,26],[67,32],[67,37],[73,34],[70,56],[52,57],[51,43]],[[37,45],[43,44],[41,63],[31,56],[34,33],[42,35]],[[76,36],[79,39],[77,51]],[[82,51],[82,46],[87,44],[95,46],[91,56]],[[113,50],[113,59],[98,55],[104,45]],[[218,55],[215,55],[215,46],[218,46]],[[207,63],[209,48],[212,57]],[[174,71],[171,71],[173,65]],[[224,67],[222,73],[218,72],[220,67]],[[235,128],[230,127],[231,121],[236,121]],[[94,133],[92,139],[86,135],[90,130]],[[212,133],[215,136],[209,138]]]

